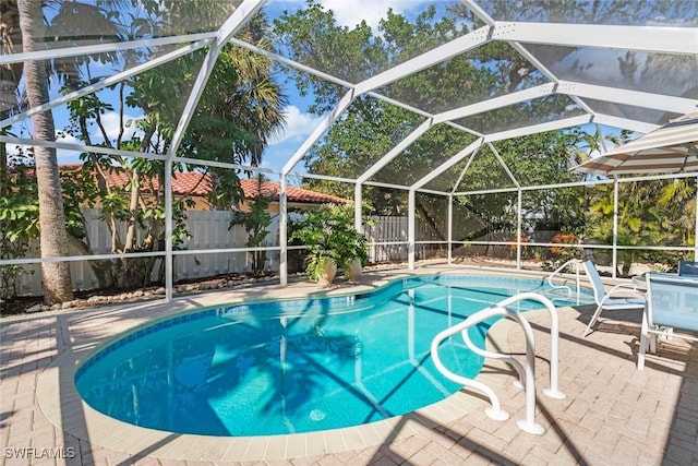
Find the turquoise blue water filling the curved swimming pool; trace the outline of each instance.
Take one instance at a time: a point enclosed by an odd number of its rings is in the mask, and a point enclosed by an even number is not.
[[[555,296],[537,279],[428,276],[364,295],[202,309],[104,347],[79,368],[75,384],[108,416],[179,433],[269,435],[372,422],[458,391],[434,368],[432,338],[522,291]],[[471,328],[476,344],[491,323]],[[461,338],[440,355],[466,377],[483,363]]]

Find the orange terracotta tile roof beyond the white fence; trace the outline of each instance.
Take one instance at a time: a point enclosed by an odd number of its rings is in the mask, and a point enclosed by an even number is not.
[[[64,165],[61,169],[77,169],[80,165]],[[122,171],[107,171],[106,179],[109,187],[124,187],[129,182],[129,178]],[[244,193],[245,199],[252,199],[257,195],[257,180],[241,179],[240,187]],[[158,180],[153,180],[149,184],[144,182],[141,190],[149,192],[151,189],[158,190]],[[273,181],[264,181],[262,183],[262,192],[265,195],[278,199],[281,187]],[[201,174],[198,171],[185,171],[176,174],[172,176],[172,192],[178,195],[207,195],[212,190],[210,177],[207,174]],[[302,188],[287,187],[286,196],[289,202],[301,202],[312,204],[327,204],[327,203],[346,203],[347,199],[338,198],[332,194],[325,194],[322,192],[311,191]]]

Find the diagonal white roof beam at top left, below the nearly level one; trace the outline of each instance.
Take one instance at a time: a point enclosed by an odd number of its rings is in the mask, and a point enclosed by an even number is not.
[[[166,63],[168,61],[174,60],[176,58],[182,57],[182,56],[184,56],[186,53],[191,53],[194,50],[198,50],[200,48],[203,48],[208,44],[210,44],[210,39],[200,40],[200,41],[197,41],[195,44],[190,44],[186,47],[182,47],[180,49],[173,50],[173,51],[171,51],[169,53],[166,53],[164,56],[154,58],[153,60],[149,60],[149,61],[147,61],[145,63],[139,64],[136,67],[133,67],[130,70],[125,70],[125,71],[117,73],[117,74],[115,74],[112,76],[105,77],[104,80],[99,80],[98,82],[96,82],[94,84],[91,84],[88,86],[85,86],[85,87],[83,87],[83,88],[81,88],[79,91],[72,92],[70,94],[62,95],[62,96],[60,96],[58,98],[55,98],[51,101],[47,101],[44,105],[39,105],[38,107],[31,108],[29,110],[23,111],[22,113],[17,113],[17,115],[14,115],[14,116],[12,116],[10,118],[7,118],[7,119],[0,121],[0,128],[9,127],[11,124],[14,124],[17,121],[21,121],[21,120],[24,120],[24,119],[31,117],[32,115],[40,113],[43,111],[50,110],[52,108],[58,107],[59,105],[69,103],[71,100],[74,100],[74,99],[80,98],[82,96],[85,96],[87,94],[92,94],[94,92],[97,92],[97,91],[99,91],[101,88],[105,88],[107,86],[110,86],[112,84],[117,84],[117,83],[119,83],[119,82],[121,82],[121,81],[123,81],[125,79],[129,79],[131,76],[134,76],[134,75],[136,75],[139,73],[143,73],[144,71],[152,70],[153,68],[159,67],[163,63]]]

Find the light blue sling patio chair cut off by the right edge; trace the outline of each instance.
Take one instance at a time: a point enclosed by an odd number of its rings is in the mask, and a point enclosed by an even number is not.
[[[698,342],[698,276],[647,274],[647,301],[642,313],[637,369],[645,369],[645,354],[657,348],[657,336]],[[675,332],[676,331],[676,332]]]

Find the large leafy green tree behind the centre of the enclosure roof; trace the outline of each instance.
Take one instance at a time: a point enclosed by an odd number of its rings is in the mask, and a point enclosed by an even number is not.
[[[293,15],[281,15],[275,22],[275,33],[284,43],[284,51],[290,52],[294,59],[358,82],[376,70],[384,70],[408,60],[423,52],[428,47],[468,33],[468,24],[472,23],[464,22],[455,13],[436,20],[435,10],[429,8],[413,22],[402,15],[388,12],[380,23],[380,34],[372,34],[365,24],[360,24],[353,29],[337,26],[332,11],[325,11],[321,5],[310,1],[305,10]],[[342,45],[344,50],[341,62],[329,53],[338,47],[338,44]],[[540,82],[542,80],[540,73],[517,72],[521,61],[526,60],[520,58],[514,49],[507,45],[494,43],[478,49],[477,52],[455,57],[447,62],[406,76],[378,92],[438,112],[453,108],[457,103],[465,105],[520,88],[525,84]],[[530,64],[527,63],[527,65],[530,68]],[[342,73],[345,70],[346,72]],[[296,74],[296,83],[301,89],[312,89],[316,99],[310,110],[317,113],[329,110],[344,94],[341,87],[326,84],[311,75]],[[566,111],[564,104],[555,98],[539,99],[518,108],[474,116],[461,123],[483,128],[493,128],[503,122],[515,124],[526,112],[528,112],[527,118],[531,118],[531,113],[564,115]],[[338,177],[359,176],[402,141],[422,121],[422,117],[402,108],[393,107],[371,97],[359,97],[329,129],[324,140],[311,148],[305,158],[306,166],[311,172]],[[454,131],[446,126],[435,127],[382,169],[376,178],[400,180],[404,183],[414,182],[436,167],[434,160],[444,160],[444,154],[455,155],[473,140],[472,135]],[[520,141],[517,141],[517,144],[520,144]],[[547,154],[546,151],[541,152],[541,158]],[[568,154],[568,151],[565,151],[565,154]],[[458,164],[440,180],[450,177],[454,182],[462,170],[462,166],[464,164]],[[486,167],[482,170],[490,175]],[[476,169],[476,172],[480,175],[482,170]],[[546,182],[550,182],[550,178],[546,178]],[[328,188],[328,183],[316,180],[309,181],[308,186],[318,190]],[[443,188],[444,183],[440,186]],[[473,184],[473,188],[476,186]],[[348,186],[344,192],[333,191],[333,193],[349,196],[351,189],[352,187]],[[383,190],[364,189],[365,199],[376,200],[374,207],[377,212],[404,211],[406,196],[396,199],[393,195],[389,200],[381,200]],[[393,204],[387,204],[388,202]]]

